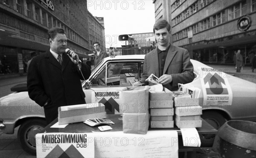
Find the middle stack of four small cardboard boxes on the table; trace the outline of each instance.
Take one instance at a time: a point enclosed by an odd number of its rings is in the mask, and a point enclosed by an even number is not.
[[[162,92],[149,92],[151,128],[173,128],[174,109],[172,91],[164,88]]]

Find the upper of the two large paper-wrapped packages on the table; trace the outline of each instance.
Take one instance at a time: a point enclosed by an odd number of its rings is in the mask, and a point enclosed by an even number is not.
[[[149,109],[149,86],[125,87],[122,90],[123,113],[146,113]]]

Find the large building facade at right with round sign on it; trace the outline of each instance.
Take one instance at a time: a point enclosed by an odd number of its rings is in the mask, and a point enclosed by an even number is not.
[[[256,52],[256,0],[170,0],[172,43],[204,63],[244,64]]]

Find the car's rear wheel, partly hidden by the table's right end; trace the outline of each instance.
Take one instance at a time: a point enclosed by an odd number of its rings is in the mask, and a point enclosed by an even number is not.
[[[215,129],[219,129],[227,121],[227,119],[224,118],[220,113],[212,112],[212,111],[203,112],[203,115],[201,115],[201,118],[207,121]],[[201,138],[202,147],[212,147],[212,144],[215,139],[215,135],[214,134],[200,135],[200,138]]]

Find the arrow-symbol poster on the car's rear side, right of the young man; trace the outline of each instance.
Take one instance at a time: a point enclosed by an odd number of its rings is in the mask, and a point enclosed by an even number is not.
[[[228,82],[230,75],[209,67],[198,67],[198,71],[204,95],[203,106],[230,106],[233,99]]]

